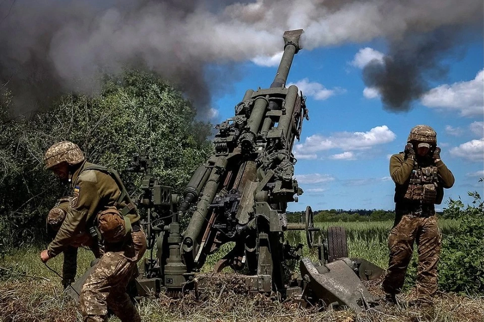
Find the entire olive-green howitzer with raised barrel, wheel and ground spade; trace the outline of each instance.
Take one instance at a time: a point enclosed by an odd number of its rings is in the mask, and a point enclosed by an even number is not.
[[[302,215],[304,223],[287,221],[287,204],[302,194],[293,178],[292,148],[309,119],[305,97],[296,86],[285,87],[301,34],[284,33],[284,53],[270,88],[248,90],[234,116],[216,126],[215,153],[183,192],[173,194],[160,185],[151,174],[151,160],[135,156],[131,170],[146,172],[137,203],[147,209],[143,223],[151,250],[136,280],[139,296],[163,290],[177,295],[195,285],[203,290],[213,275],[201,273],[207,256],[231,243],[213,270],[232,268],[254,292],[322,299],[354,310],[376,305],[360,279],[382,271],[365,260],[347,258],[344,229],[330,228],[321,240],[311,207]],[[191,218],[183,233],[182,214]],[[284,238],[289,230],[306,231],[308,246],[319,251],[319,263],[301,260],[303,245],[290,245]],[[298,268],[301,276],[293,279]]]

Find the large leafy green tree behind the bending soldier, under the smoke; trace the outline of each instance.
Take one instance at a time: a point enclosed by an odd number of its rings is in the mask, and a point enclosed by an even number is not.
[[[91,162],[116,169],[129,190],[141,178],[125,171],[133,153],[147,152],[154,174],[180,191],[212,151],[210,124],[197,121],[183,94],[152,73],[106,77],[98,95],[64,96],[30,120],[5,121],[9,101],[0,101],[0,229],[10,243],[38,237],[46,212],[67,193],[43,169],[43,153],[56,141],[71,140]]]

